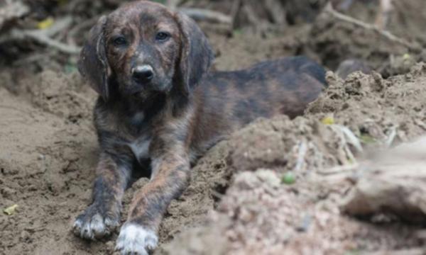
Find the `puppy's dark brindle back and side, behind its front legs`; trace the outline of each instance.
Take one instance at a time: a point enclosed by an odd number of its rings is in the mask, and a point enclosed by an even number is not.
[[[195,90],[195,108],[203,118],[195,123],[193,144],[213,144],[256,118],[302,115],[325,86],[324,68],[307,57],[207,74]]]

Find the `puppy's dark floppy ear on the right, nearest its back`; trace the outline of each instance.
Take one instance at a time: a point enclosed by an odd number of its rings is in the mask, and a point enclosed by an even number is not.
[[[212,47],[200,27],[185,14],[176,13],[180,27],[181,52],[177,74],[183,94],[188,95],[213,62]]]

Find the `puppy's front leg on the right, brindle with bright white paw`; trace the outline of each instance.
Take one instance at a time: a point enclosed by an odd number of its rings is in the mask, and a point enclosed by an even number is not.
[[[161,144],[168,144],[164,142]],[[148,250],[157,246],[163,214],[170,201],[180,196],[189,182],[190,163],[185,146],[174,145],[160,150],[153,153],[151,181],[134,196],[129,216],[121,227],[116,242],[121,254],[148,254]]]

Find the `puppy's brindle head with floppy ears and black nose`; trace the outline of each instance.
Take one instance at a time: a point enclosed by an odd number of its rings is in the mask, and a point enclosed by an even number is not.
[[[187,96],[212,60],[195,21],[160,4],[136,1],[99,18],[79,70],[105,101],[114,96],[111,91],[139,98],[170,91]]]

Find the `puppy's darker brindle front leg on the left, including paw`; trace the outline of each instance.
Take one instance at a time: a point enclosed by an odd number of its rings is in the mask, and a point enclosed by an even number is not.
[[[86,239],[110,234],[119,225],[121,198],[130,178],[129,162],[102,153],[97,165],[92,205],[75,220],[74,233]]]

